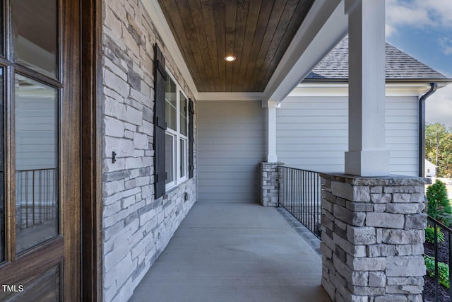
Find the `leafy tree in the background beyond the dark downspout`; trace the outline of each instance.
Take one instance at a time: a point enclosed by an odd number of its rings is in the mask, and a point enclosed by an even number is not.
[[[438,176],[452,177],[452,129],[446,129],[444,124],[427,124],[425,157],[436,165]]]

